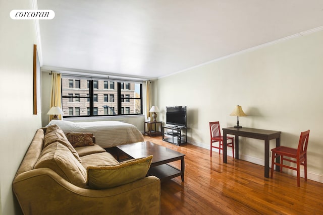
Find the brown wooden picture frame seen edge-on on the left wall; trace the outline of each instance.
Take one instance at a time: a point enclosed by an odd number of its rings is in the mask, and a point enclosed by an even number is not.
[[[33,96],[34,96],[34,115],[41,112],[41,96],[40,96],[40,84],[41,84],[40,62],[37,52],[37,45],[34,44],[34,57],[33,57]]]

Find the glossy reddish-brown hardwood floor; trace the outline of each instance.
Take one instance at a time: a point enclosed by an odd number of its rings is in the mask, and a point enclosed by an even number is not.
[[[263,177],[263,166],[222,156],[190,144],[181,147],[161,137],[145,136],[185,154],[185,181],[181,177],[161,183],[161,214],[323,214],[323,184],[274,173]],[[180,162],[173,162],[180,168]]]

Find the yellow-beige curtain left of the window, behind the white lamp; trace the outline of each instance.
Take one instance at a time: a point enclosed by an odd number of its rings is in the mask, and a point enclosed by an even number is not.
[[[62,108],[62,79],[61,74],[59,73],[52,73],[51,79],[51,96],[50,96],[50,107],[58,106]],[[49,116],[49,121],[51,120],[52,115]],[[59,119],[63,119],[62,115],[59,115]]]

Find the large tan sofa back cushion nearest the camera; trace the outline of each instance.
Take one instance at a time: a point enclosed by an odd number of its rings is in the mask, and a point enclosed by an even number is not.
[[[86,187],[86,170],[71,151],[60,142],[52,142],[43,149],[35,169],[49,168],[65,180],[80,187]]]

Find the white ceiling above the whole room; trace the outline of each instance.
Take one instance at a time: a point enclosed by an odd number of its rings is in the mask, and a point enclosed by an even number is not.
[[[322,0],[38,0],[43,67],[156,79],[323,26]]]

